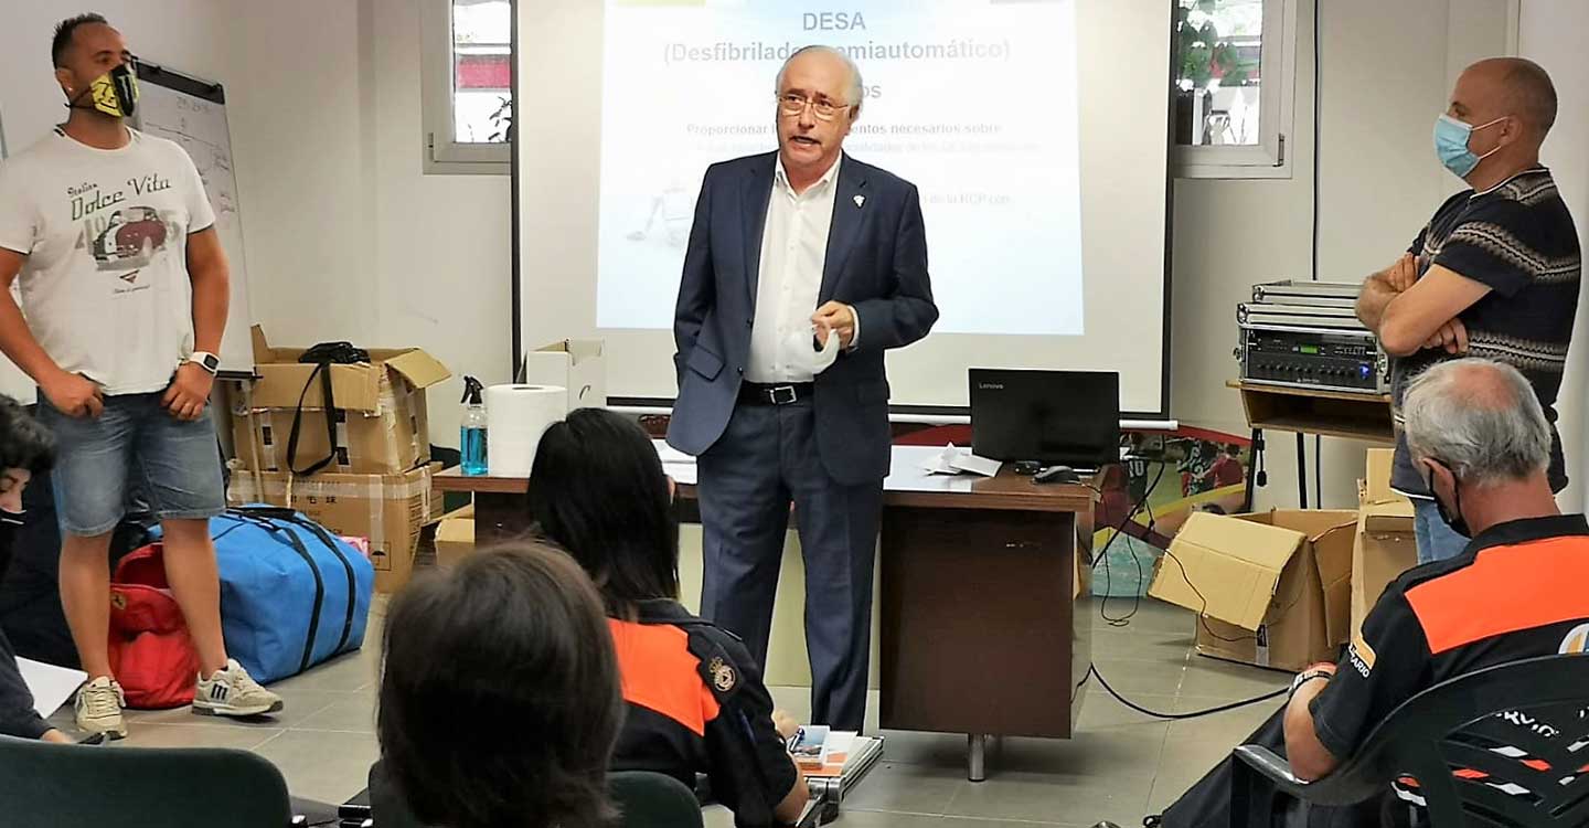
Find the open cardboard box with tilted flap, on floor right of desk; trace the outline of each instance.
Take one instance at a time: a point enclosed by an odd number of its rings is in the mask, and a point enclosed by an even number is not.
[[[1147,594],[1200,613],[1198,653],[1276,669],[1333,661],[1351,604],[1354,512],[1195,513]]]

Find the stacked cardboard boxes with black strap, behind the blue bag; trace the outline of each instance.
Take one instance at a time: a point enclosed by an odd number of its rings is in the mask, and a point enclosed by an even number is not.
[[[257,326],[253,337],[257,380],[234,399],[229,502],[292,507],[327,529],[367,537],[375,588],[400,588],[421,529],[442,515],[424,389],[450,372],[418,348],[372,350],[370,362],[329,367],[327,410],[316,366],[299,362],[302,348],[273,348]],[[297,451],[289,458],[296,418]],[[326,456],[331,462],[313,475],[291,470]]]

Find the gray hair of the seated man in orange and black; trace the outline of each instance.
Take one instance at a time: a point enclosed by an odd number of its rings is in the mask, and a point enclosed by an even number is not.
[[[1433,459],[1467,485],[1522,480],[1551,462],[1540,399],[1502,362],[1467,358],[1430,367],[1408,386],[1401,413],[1413,459]]]

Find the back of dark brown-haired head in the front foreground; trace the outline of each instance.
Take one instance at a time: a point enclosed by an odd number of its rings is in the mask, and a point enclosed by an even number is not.
[[[415,580],[386,612],[372,798],[381,807],[391,785],[445,828],[604,828],[621,720],[585,571],[545,544],[481,551]]]

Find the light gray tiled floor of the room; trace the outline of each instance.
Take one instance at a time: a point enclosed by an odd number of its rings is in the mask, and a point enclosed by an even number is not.
[[[254,750],[281,768],[296,796],[343,801],[364,787],[377,755],[377,642],[378,617],[364,652],[275,685],[288,707],[273,720],[133,712],[124,744]],[[1193,655],[1192,615],[1154,601],[1144,601],[1123,629],[1095,617],[1093,658],[1117,691],[1163,712],[1257,696],[1289,680]],[[796,715],[809,709],[804,688],[774,688],[774,696]],[[852,795],[837,825],[1014,828],[1112,820],[1131,828],[1179,796],[1279,704],[1163,722],[1123,707],[1092,682],[1074,739],[1004,739],[990,750],[988,779],[980,784],[965,777],[965,736],[885,731],[883,763]],[[56,720],[70,723],[70,709]],[[726,828],[733,820],[721,812],[707,823]]]

